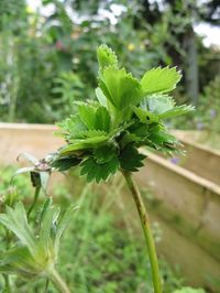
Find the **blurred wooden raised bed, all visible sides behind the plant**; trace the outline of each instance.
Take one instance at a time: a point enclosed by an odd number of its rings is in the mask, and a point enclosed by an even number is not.
[[[21,152],[38,159],[53,152],[63,143],[54,130],[52,126],[0,123],[0,163],[14,163]],[[183,134],[180,140],[188,150],[180,166],[144,150],[148,160],[135,176],[142,189],[154,195],[146,204],[152,219],[161,224],[160,252],[193,284],[218,293],[210,278],[220,280],[220,186],[215,175],[220,154]],[[133,207],[131,197],[125,200],[127,207]]]

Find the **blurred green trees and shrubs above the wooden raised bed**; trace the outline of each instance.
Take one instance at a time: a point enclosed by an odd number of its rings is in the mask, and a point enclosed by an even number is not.
[[[220,53],[205,47],[193,26],[218,25],[218,11],[215,0],[42,0],[36,11],[25,0],[1,0],[0,119],[51,123],[72,112],[73,99],[94,98],[101,43],[138,78],[158,65],[178,66],[177,101],[198,83],[199,108],[205,86],[219,73]],[[198,76],[187,65],[189,41],[197,46]]]

